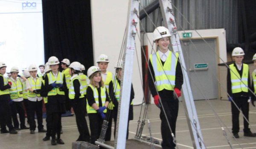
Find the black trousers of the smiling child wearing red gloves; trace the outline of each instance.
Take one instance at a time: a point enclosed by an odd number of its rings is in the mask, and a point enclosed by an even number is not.
[[[172,97],[169,99],[162,98],[162,104],[166,112],[172,132],[175,135],[176,121],[177,121],[178,110],[179,110],[179,101],[178,99],[174,99]],[[176,144],[173,143],[172,133],[169,129],[167,119],[163,112],[163,108],[161,107],[160,110],[161,110],[160,112],[161,134],[163,139],[163,142],[161,144],[162,148],[175,149]]]

